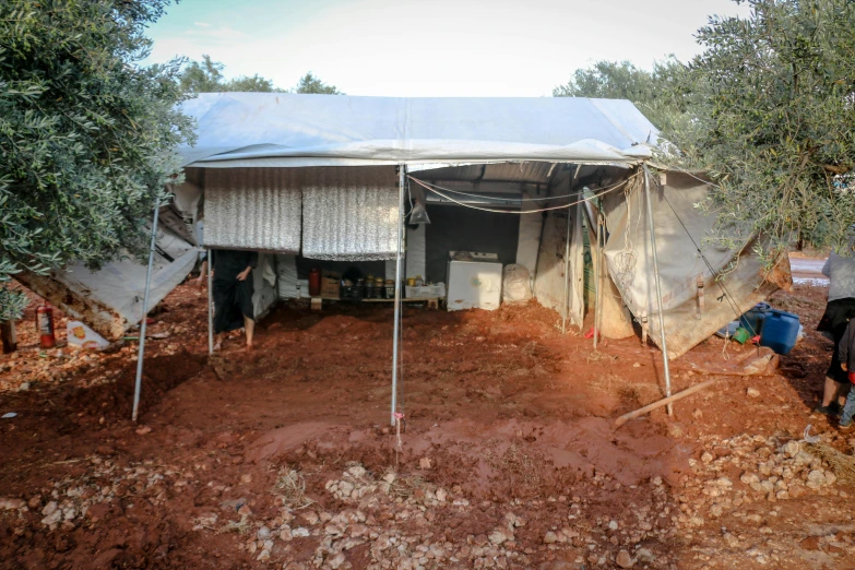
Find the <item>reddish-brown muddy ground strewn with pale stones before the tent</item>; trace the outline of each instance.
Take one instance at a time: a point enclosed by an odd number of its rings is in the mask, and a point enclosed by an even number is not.
[[[662,397],[656,348],[594,352],[536,304],[406,308],[400,434],[390,308],[283,306],[209,359],[180,286],[133,424],[136,341],[39,351],[31,307],[0,357],[0,568],[853,568],[855,491],[799,442],[852,453],[810,417],[826,293],[772,299],[806,330],[779,368],[714,337],[673,369],[715,384],[619,429]]]

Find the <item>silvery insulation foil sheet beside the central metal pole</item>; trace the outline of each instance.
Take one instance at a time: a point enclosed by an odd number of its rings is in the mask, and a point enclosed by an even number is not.
[[[307,177],[302,254],[335,261],[375,261],[397,251],[394,167],[318,168]]]

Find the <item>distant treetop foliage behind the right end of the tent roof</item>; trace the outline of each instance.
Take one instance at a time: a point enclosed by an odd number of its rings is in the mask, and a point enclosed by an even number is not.
[[[685,74],[685,66],[674,56],[655,62],[653,71],[629,61],[597,61],[575,70],[566,85],[553,90],[553,96],[629,99],[656,128],[666,130],[687,110]]]

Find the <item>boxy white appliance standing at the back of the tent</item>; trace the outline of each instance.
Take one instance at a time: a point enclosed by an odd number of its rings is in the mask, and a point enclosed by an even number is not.
[[[498,256],[451,251],[449,258],[448,310],[498,309],[501,304],[502,268],[498,263]]]

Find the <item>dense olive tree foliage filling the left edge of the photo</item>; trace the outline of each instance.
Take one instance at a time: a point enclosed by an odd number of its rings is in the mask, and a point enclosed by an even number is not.
[[[0,2],[0,287],[145,249],[192,124],[178,62],[141,68],[168,0]],[[21,299],[0,294],[0,320]]]

